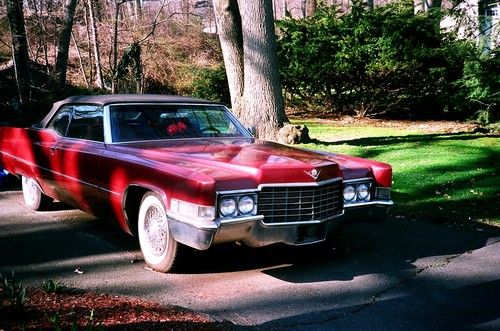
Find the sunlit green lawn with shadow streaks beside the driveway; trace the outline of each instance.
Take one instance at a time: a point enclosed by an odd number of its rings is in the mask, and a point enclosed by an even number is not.
[[[500,136],[306,123],[302,147],[390,163],[393,215],[500,226]]]

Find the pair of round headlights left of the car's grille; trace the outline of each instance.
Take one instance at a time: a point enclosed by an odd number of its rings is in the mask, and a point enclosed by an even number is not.
[[[221,217],[255,216],[257,214],[257,195],[223,195],[219,197]]]

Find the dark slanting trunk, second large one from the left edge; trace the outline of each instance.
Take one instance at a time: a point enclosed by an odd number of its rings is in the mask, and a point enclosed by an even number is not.
[[[71,30],[73,30],[73,17],[75,16],[76,3],[77,0],[66,0],[64,5],[63,28],[59,35],[56,58],[56,74],[60,87],[66,86],[69,45],[71,41]]]

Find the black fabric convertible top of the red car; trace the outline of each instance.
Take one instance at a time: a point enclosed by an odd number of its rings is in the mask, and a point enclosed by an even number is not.
[[[102,94],[102,95],[77,95],[57,101],[53,104],[50,112],[40,122],[41,127],[45,127],[49,120],[54,116],[59,108],[65,105],[89,104],[104,106],[112,103],[193,103],[216,105],[219,102],[213,102],[192,97],[182,97],[177,95],[163,94]]]

